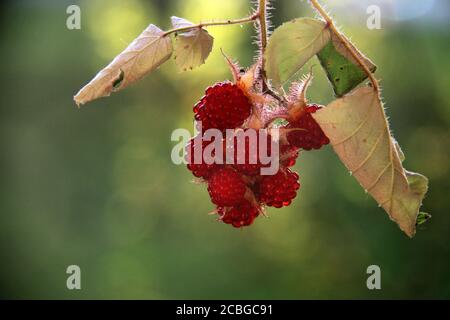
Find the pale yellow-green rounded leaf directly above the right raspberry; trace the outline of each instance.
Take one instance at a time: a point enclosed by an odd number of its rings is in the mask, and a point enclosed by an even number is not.
[[[281,87],[330,41],[325,22],[300,18],[284,23],[273,32],[265,56],[267,76]]]

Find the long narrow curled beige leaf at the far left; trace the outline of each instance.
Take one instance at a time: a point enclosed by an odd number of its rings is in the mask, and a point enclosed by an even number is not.
[[[155,25],[149,25],[122,53],[74,97],[79,106],[140,80],[170,58],[173,52],[169,37]]]

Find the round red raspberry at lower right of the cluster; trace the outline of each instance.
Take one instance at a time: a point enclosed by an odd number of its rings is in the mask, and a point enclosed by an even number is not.
[[[273,176],[263,176],[259,185],[259,197],[266,205],[281,208],[291,204],[299,188],[297,173],[289,169],[280,170]]]

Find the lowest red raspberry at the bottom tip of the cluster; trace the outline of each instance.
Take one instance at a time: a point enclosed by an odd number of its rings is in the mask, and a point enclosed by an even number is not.
[[[251,225],[259,215],[259,210],[249,201],[244,200],[231,208],[218,207],[217,213],[224,223],[231,224],[235,228],[241,228]]]

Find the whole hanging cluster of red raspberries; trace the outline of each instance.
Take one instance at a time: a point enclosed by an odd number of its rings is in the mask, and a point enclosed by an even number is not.
[[[208,192],[211,201],[217,206],[216,213],[219,219],[236,228],[251,225],[255,218],[263,213],[264,206],[276,208],[289,206],[300,188],[298,174],[289,169],[295,164],[299,149],[319,149],[329,143],[311,116],[311,113],[320,107],[310,105],[301,112],[296,112],[296,116],[289,118],[289,123],[281,128],[282,134],[278,141],[279,170],[276,174],[261,175],[260,171],[264,165],[259,156],[256,161],[249,161],[248,140],[245,140],[244,144],[246,149],[244,163],[237,161],[236,142],[233,164],[226,164],[226,161],[222,161],[221,164],[207,163],[210,161],[203,160],[203,153],[200,163],[196,163],[194,161],[196,145],[201,144],[201,150],[204,150],[213,142],[203,139],[204,131],[250,130],[248,119],[254,110],[251,101],[244,90],[231,82],[217,83],[208,88],[194,107],[195,120],[201,121],[202,131],[186,148],[187,167],[195,177],[203,179],[208,184]],[[259,135],[257,136],[260,139]],[[271,139],[271,136],[267,135],[269,150]],[[256,145],[259,148],[259,141]],[[223,143],[223,146],[227,148],[229,145]],[[226,154],[226,150],[223,154]],[[259,155],[259,152],[257,154]]]

